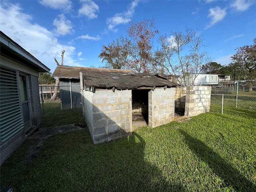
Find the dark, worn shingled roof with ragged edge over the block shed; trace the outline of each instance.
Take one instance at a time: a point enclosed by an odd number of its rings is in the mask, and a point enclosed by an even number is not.
[[[84,85],[98,88],[116,88],[118,90],[154,87],[173,87],[177,83],[170,82],[163,74],[82,70]]]

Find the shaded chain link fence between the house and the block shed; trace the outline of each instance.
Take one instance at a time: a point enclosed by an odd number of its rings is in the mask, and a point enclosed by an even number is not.
[[[56,94],[55,98],[52,96]],[[80,86],[39,85],[42,123],[40,127],[84,122]]]

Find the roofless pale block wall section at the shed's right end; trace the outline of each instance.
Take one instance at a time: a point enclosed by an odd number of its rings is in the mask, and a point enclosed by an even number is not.
[[[196,116],[210,111],[211,86],[187,86],[185,116]]]

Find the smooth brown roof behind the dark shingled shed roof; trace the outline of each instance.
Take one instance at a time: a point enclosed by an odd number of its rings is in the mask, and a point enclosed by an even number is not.
[[[95,72],[133,72],[132,70],[106,69],[106,68],[90,68],[90,67],[71,67],[57,66],[52,76],[59,78],[80,78],[79,71],[95,71]]]

